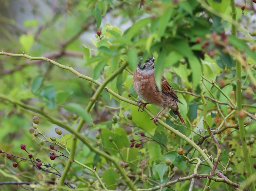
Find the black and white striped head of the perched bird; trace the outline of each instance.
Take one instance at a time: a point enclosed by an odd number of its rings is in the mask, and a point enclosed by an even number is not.
[[[155,72],[155,57],[152,55],[149,57],[144,64],[141,63],[142,58],[140,59],[137,65],[137,71],[144,75],[151,75]]]

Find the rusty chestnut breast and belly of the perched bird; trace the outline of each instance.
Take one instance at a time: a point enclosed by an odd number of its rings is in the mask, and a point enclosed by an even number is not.
[[[133,88],[146,102],[163,107],[162,94],[156,89],[154,74],[143,75],[137,70],[133,74]]]

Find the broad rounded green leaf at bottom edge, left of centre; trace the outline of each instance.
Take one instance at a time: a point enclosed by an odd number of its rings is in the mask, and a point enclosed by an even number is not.
[[[116,184],[118,183],[119,177],[120,175],[117,174],[113,169],[106,170],[102,175],[102,178],[106,183],[106,186],[110,190],[114,190],[116,188]]]

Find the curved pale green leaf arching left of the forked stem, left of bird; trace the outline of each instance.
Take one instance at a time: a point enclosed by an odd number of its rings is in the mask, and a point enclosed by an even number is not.
[[[89,125],[92,124],[89,113],[85,109],[83,109],[80,105],[71,103],[71,104],[63,104],[62,107],[64,107],[70,112],[76,113],[78,116],[83,118],[83,120],[85,120]]]

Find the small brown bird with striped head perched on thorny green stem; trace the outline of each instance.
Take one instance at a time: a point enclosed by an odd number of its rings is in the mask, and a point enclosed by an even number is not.
[[[136,70],[133,73],[133,88],[140,98],[145,100],[146,102],[142,102],[138,100],[139,108],[144,111],[144,107],[147,104],[154,104],[159,107],[162,107],[161,111],[150,119],[154,121],[154,124],[157,124],[157,120],[160,119],[159,115],[165,108],[171,108],[174,115],[178,116],[181,123],[186,124],[184,119],[182,118],[178,103],[183,104],[179,98],[177,97],[174,89],[167,82],[165,76],[161,76],[161,90],[158,89],[155,80],[155,57],[152,55],[149,57],[144,64],[142,64],[142,58],[137,65]],[[141,108],[142,106],[142,108]]]

